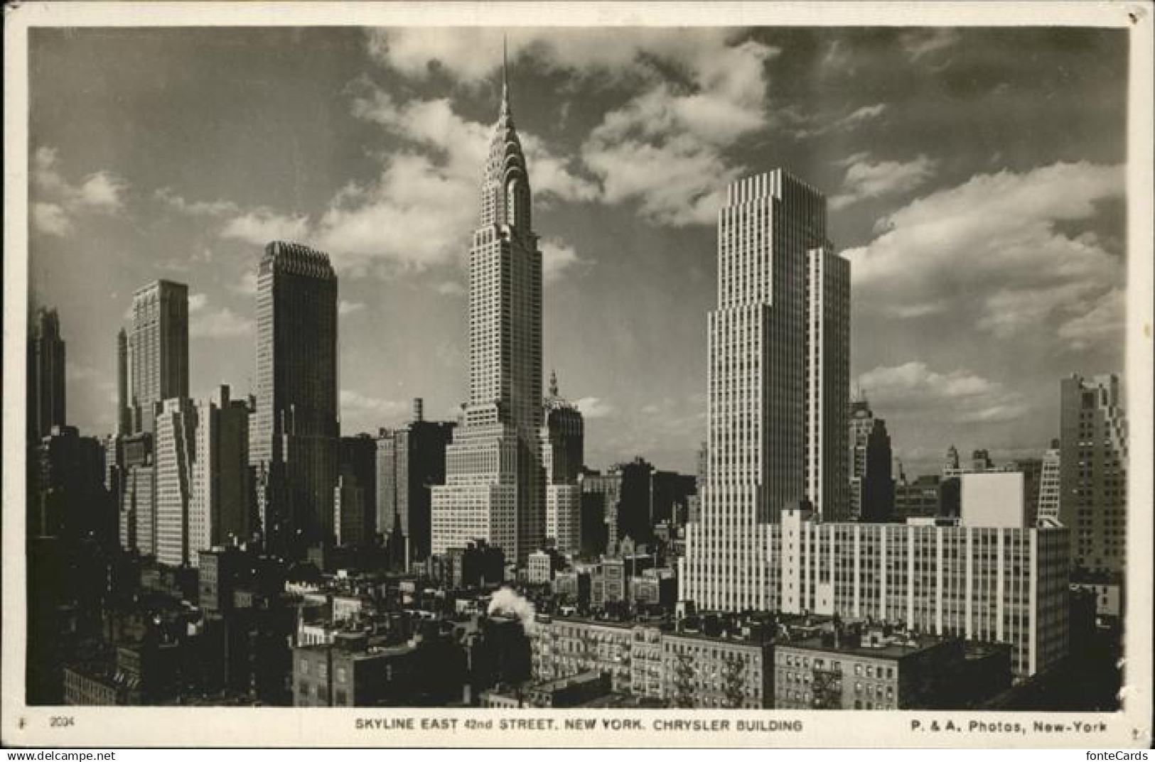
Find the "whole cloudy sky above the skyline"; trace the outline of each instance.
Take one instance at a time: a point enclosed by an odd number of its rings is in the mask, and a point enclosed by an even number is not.
[[[68,417],[116,420],[135,289],[187,283],[191,393],[252,390],[255,267],[340,278],[342,432],[453,419],[502,35],[32,29],[29,284]],[[1123,372],[1126,32],[532,29],[508,77],[544,256],[544,360],[590,466],[693,472],[725,186],[784,167],[851,262],[851,379],[907,473],[1037,456],[1059,380]]]

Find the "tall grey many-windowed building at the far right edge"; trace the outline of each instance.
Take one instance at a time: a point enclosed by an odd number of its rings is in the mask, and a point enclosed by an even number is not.
[[[1071,561],[1122,573],[1127,540],[1127,419],[1119,379],[1071,375],[1060,384],[1059,521]]]

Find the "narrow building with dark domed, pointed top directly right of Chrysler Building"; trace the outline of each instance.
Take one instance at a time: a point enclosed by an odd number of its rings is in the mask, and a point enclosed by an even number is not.
[[[545,536],[562,553],[581,552],[581,473],[586,425],[576,405],[558,391],[558,376],[550,374],[542,427],[542,465],[545,469]]]

